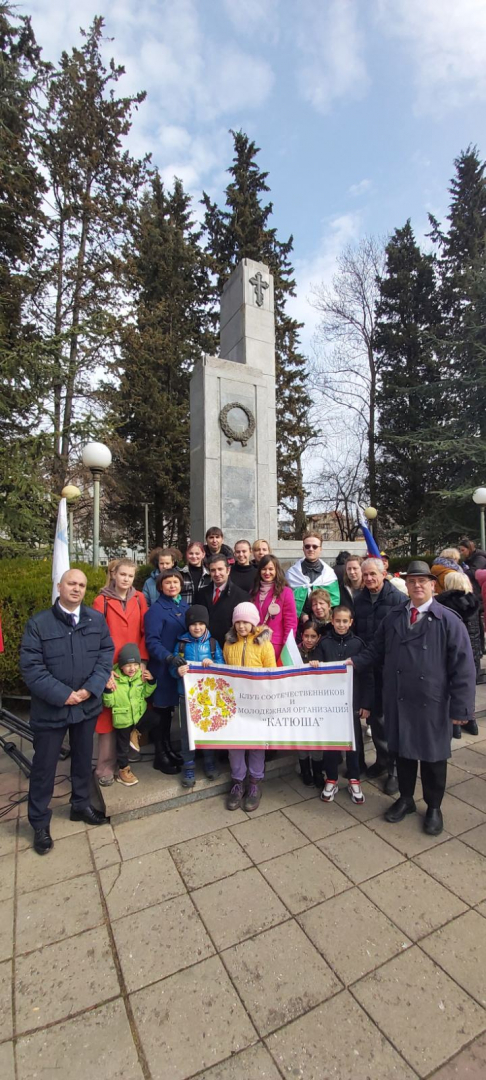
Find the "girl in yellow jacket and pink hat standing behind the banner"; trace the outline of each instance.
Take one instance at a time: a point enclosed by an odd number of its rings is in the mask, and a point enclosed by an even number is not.
[[[225,662],[233,667],[276,667],[275,653],[270,642],[271,632],[259,626],[259,615],[254,604],[238,604],[233,611],[233,625],[226,635],[222,649]],[[260,781],[265,774],[265,750],[230,750],[232,787],[228,796],[228,810],[241,807],[246,780],[246,753],[248,754],[248,786],[244,810],[256,810],[261,798]]]

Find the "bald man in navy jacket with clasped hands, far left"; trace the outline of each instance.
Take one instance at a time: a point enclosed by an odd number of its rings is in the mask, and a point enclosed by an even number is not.
[[[31,693],[33,760],[28,818],[39,855],[53,847],[49,804],[66,732],[71,746],[71,821],[103,825],[90,806],[93,735],[102,694],[110,677],[113,643],[105,618],[82,603],[86,578],[66,570],[52,608],[29,619],[21,647],[21,671]]]

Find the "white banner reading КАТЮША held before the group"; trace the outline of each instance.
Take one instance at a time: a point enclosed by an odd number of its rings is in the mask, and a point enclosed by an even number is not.
[[[322,667],[190,665],[184,676],[191,750],[354,750],[353,676]]]

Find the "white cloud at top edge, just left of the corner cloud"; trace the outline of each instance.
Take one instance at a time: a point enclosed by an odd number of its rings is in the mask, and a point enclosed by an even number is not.
[[[357,0],[300,0],[296,9],[297,81],[319,112],[339,98],[360,98],[367,89],[357,11]]]

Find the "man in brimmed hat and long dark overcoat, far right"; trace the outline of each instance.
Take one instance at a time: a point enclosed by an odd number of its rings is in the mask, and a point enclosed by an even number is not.
[[[476,671],[468,631],[455,611],[434,600],[435,579],[427,563],[415,559],[406,572],[409,602],[394,607],[373,642],[353,658],[357,672],[383,666],[384,725],[396,755],[400,799],[386,811],[394,824],[414,813],[420,761],[429,836],[443,829],[447,758],[453,724],[474,716]]]

